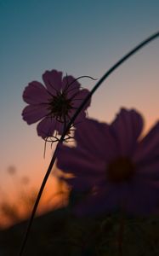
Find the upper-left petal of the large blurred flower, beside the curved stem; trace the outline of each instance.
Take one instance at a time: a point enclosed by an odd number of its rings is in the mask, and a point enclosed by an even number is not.
[[[110,125],[84,119],[77,125],[75,139],[77,145],[94,155],[94,159],[105,160],[106,163],[116,156],[116,143],[111,136]]]

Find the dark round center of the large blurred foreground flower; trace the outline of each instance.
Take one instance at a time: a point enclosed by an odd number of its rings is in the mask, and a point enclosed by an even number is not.
[[[135,166],[128,157],[119,157],[112,160],[107,168],[107,179],[112,183],[129,181],[134,174]]]

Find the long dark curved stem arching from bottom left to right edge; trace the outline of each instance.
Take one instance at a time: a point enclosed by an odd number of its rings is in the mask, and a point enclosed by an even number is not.
[[[60,142],[58,143],[55,151],[54,151],[54,155],[52,157],[52,160],[48,166],[48,171],[46,172],[45,174],[45,177],[43,178],[43,183],[41,185],[41,188],[39,190],[39,193],[37,195],[37,200],[35,202],[35,205],[33,207],[33,210],[31,212],[31,218],[29,220],[29,223],[28,223],[28,226],[27,226],[27,229],[26,229],[26,234],[25,234],[25,237],[24,237],[24,240],[22,242],[22,245],[20,247],[20,253],[19,253],[19,256],[21,256],[24,252],[24,249],[25,249],[25,246],[26,246],[26,241],[27,241],[27,237],[29,235],[29,232],[31,230],[31,224],[32,224],[32,221],[33,221],[33,218],[35,216],[35,213],[37,211],[37,206],[38,206],[38,203],[40,201],[40,198],[41,198],[41,195],[43,193],[43,189],[45,187],[45,184],[47,183],[47,180],[48,180],[48,176],[54,166],[54,161],[56,159],[56,155],[58,154],[58,151],[59,151],[59,145],[60,143],[63,142],[64,138],[65,138],[65,135],[67,134],[67,132],[70,130],[71,128],[71,125],[74,123],[75,119],[77,118],[77,115],[82,111],[82,108],[85,106],[85,104],[88,102],[88,100],[90,99],[90,97],[94,94],[95,90],[97,90],[100,86],[100,84],[102,84],[104,82],[105,79],[107,79],[107,77],[113,73],[117,67],[121,66],[122,63],[124,61],[127,61],[128,58],[130,56],[132,56],[133,54],[135,54],[139,49],[143,48],[146,44],[149,44],[152,40],[156,39],[157,37],[159,37],[159,32],[156,32],[155,34],[151,35],[149,38],[146,38],[143,42],[141,42],[139,45],[137,45],[135,48],[133,48],[131,51],[128,52],[127,55],[124,55],[122,57],[122,59],[120,59],[119,61],[116,62],[115,65],[113,65],[106,73],[105,75],[99,79],[99,82],[97,84],[95,84],[94,88],[90,91],[90,93],[88,94],[88,96],[84,99],[84,101],[82,102],[82,104],[80,105],[80,107],[77,109],[76,113],[73,115],[73,117],[71,118],[71,121],[70,123],[67,125],[67,127],[65,128],[65,131],[64,133],[62,134],[62,136],[60,137]]]

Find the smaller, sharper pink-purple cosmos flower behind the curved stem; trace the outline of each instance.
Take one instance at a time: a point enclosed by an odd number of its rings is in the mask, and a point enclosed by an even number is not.
[[[28,125],[40,121],[37,134],[40,137],[52,137],[54,131],[61,135],[65,125],[71,120],[82,100],[88,96],[88,90],[80,90],[80,84],[72,76],[62,78],[62,72],[56,70],[43,73],[43,84],[32,81],[23,93],[24,101],[29,104],[22,112]],[[77,116],[77,122],[85,118],[85,110],[90,101]],[[74,124],[75,125],[75,124]]]

